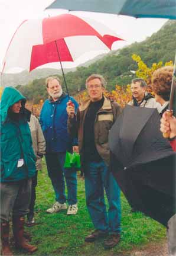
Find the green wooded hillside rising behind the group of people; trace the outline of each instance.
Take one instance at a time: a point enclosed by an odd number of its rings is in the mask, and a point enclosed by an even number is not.
[[[131,71],[135,71],[138,66],[132,60],[132,55],[140,55],[142,60],[151,67],[152,63],[162,61],[163,63],[175,58],[175,41],[176,41],[176,21],[168,21],[157,33],[141,43],[133,43],[129,47],[124,47],[118,51],[96,60],[89,66],[80,66],[74,72],[66,73],[66,81],[70,93],[76,94],[84,89],[84,83],[87,76],[92,73],[100,73],[108,81],[107,89],[112,90],[115,85],[127,85],[134,77]],[[37,101],[40,98],[47,97],[44,87],[44,78],[35,79],[26,88],[18,87],[28,96],[28,98]],[[35,92],[34,92],[35,91]]]

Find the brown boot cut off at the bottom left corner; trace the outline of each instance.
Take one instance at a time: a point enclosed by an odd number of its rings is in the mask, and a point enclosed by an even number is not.
[[[1,243],[3,256],[13,256],[9,247],[9,222],[1,223]]]

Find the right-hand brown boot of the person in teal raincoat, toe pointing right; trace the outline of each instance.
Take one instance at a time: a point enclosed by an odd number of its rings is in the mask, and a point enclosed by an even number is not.
[[[34,245],[28,244],[28,241],[24,238],[24,217],[13,216],[13,232],[15,239],[15,246],[17,248],[25,249],[28,252],[34,252],[37,250],[37,247]]]

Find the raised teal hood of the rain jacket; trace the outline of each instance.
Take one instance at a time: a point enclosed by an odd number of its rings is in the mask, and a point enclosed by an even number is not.
[[[4,123],[8,115],[8,109],[17,101],[22,100],[22,108],[26,102],[25,97],[14,87],[6,87],[1,98],[1,122]]]

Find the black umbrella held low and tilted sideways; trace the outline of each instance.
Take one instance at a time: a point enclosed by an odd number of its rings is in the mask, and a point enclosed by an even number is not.
[[[127,105],[109,132],[113,175],[132,207],[167,226],[175,213],[175,153],[155,108]]]

